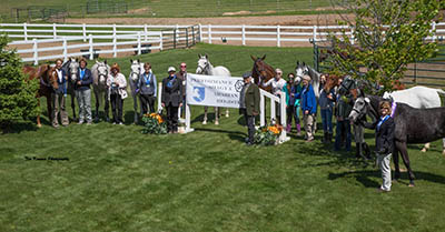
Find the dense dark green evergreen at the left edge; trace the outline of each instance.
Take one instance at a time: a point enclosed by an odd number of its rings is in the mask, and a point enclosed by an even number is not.
[[[23,74],[20,57],[7,50],[8,37],[0,36],[0,128],[6,130],[21,119],[40,113],[38,81]]]

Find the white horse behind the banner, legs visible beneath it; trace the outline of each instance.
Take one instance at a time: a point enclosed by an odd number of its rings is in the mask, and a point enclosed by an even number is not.
[[[220,77],[231,77],[230,71],[222,65],[214,67],[208,56],[198,54],[198,68],[196,68],[197,74],[206,74],[206,75],[220,75]],[[207,124],[207,111],[208,107],[204,107],[204,120],[202,124]],[[226,109],[226,118],[229,117],[229,109]],[[219,108],[215,108],[215,124],[219,124]]]

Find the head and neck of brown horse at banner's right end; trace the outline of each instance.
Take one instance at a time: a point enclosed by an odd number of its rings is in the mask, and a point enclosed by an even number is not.
[[[263,87],[263,83],[266,83],[270,79],[275,78],[277,74],[275,69],[271,68],[269,64],[264,62],[266,59],[266,54],[263,58],[255,58],[250,54],[251,60],[254,60],[254,68],[251,69],[251,77],[260,89],[266,90],[267,92],[271,92],[271,85]]]

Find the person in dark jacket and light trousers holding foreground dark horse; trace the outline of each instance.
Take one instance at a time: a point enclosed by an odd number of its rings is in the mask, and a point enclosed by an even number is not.
[[[363,122],[368,129],[375,129],[375,152],[377,153],[377,163],[380,168],[383,183],[378,189],[379,192],[390,191],[390,157],[394,150],[394,131],[395,123],[390,117],[392,105],[387,101],[379,103],[380,119],[374,123]]]

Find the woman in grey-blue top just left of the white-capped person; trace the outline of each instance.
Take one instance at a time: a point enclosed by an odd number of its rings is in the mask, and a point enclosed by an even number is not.
[[[139,90],[139,98],[142,104],[142,113],[146,114],[150,108],[150,113],[155,112],[155,101],[157,92],[156,75],[151,72],[151,64],[144,63],[145,72],[139,75],[137,89]]]

